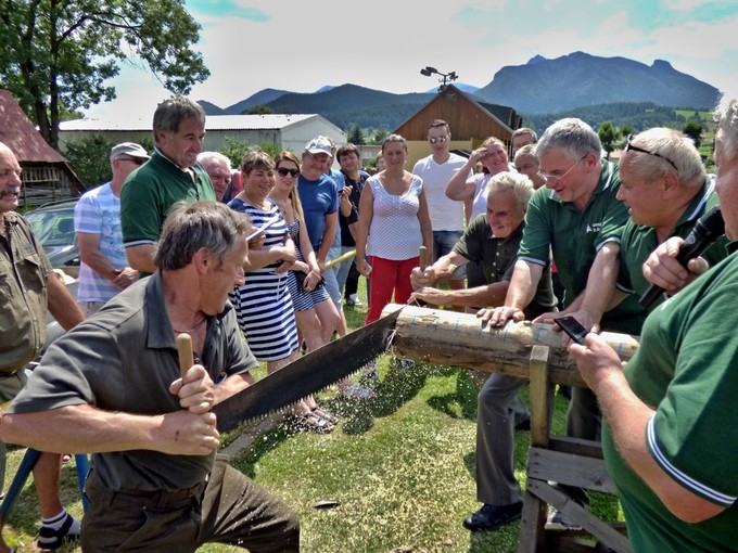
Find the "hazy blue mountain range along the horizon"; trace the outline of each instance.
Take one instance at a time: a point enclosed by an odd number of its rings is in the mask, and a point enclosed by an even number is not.
[[[646,65],[625,57],[574,52],[554,60],[540,55],[499,69],[488,85],[455,85],[475,100],[514,107],[524,116],[558,114],[610,103],[649,102],[658,106],[711,110],[720,91],[680,73],[663,60]],[[314,93],[264,89],[221,108],[201,101],[209,115],[237,115],[265,105],[275,113],[317,113],[339,127],[393,129],[431,101],[436,91],[396,94],[357,85],[322,87]]]

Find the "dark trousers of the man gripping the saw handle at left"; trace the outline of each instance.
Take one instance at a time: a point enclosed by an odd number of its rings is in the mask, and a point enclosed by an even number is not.
[[[300,524],[287,505],[218,455],[207,483],[174,492],[118,492],[91,471],[82,519],[86,553],[194,552],[218,542],[251,553],[300,551]]]

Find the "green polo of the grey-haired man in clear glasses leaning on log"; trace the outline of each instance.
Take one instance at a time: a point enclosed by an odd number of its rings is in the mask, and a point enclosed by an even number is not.
[[[545,266],[549,256],[558,269],[568,306],[587,285],[597,250],[628,220],[627,206],[615,194],[620,188],[618,167],[602,162],[602,171],[589,202],[580,210],[547,188],[533,193],[525,216],[525,231],[518,258]],[[602,327],[638,334],[641,320],[637,298],[628,298],[602,317]]]

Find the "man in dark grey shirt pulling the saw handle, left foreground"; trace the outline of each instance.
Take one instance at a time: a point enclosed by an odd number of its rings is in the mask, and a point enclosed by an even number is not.
[[[253,384],[258,365],[228,303],[243,284],[252,226],[218,202],[170,211],[161,269],[49,348],[0,413],[0,438],[92,453],[84,551],[194,552],[219,542],[296,552],[295,515],[216,456],[211,408]],[[176,338],[184,333],[196,359],[180,374]]]

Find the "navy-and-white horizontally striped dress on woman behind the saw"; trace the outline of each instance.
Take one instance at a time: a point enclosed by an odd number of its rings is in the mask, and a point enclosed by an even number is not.
[[[288,233],[277,204],[267,201],[268,211],[238,197],[228,204],[231,209],[249,215],[255,227],[262,227],[272,217],[279,218],[265,232],[264,249],[283,244]],[[276,273],[275,269],[279,266],[278,262],[247,271],[243,286],[237,286],[229,295],[249,347],[259,361],[278,361],[297,349],[297,325],[288,287],[288,272]]]

